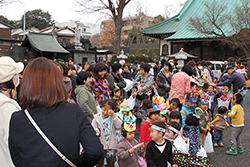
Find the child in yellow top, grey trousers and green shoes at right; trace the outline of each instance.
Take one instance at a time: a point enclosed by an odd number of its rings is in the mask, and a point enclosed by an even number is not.
[[[243,153],[240,135],[244,129],[244,109],[240,103],[243,100],[242,95],[236,93],[232,97],[232,104],[234,105],[228,117],[232,118],[232,132],[231,132],[231,149],[226,151],[227,154],[236,155]]]

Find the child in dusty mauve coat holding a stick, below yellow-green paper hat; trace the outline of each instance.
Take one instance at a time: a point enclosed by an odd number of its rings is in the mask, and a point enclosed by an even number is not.
[[[133,146],[139,144],[139,142],[134,139],[135,132],[122,130],[123,139],[120,141],[117,147],[117,156],[119,167],[130,167],[133,164],[134,167],[140,167],[138,163],[139,156],[143,153],[143,145],[139,148],[134,149]]]

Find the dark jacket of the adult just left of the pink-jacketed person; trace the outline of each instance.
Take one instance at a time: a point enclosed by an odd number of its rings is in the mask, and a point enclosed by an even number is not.
[[[157,91],[160,96],[165,97],[166,96],[166,89],[167,85],[171,87],[171,78],[172,74],[166,75],[164,71],[160,71],[156,77],[156,84],[157,84]]]

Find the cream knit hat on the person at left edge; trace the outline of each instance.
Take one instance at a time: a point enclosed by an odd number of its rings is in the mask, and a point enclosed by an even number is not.
[[[16,63],[11,57],[0,57],[0,83],[10,81],[16,74],[23,71],[22,62]]]

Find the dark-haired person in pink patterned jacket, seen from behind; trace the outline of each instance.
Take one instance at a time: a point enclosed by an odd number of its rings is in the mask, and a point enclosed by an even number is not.
[[[178,98],[181,104],[185,103],[185,96],[190,92],[190,76],[192,75],[195,75],[195,72],[190,65],[184,65],[181,72],[173,75],[169,100]]]

